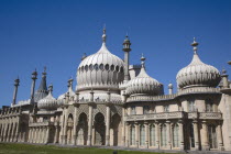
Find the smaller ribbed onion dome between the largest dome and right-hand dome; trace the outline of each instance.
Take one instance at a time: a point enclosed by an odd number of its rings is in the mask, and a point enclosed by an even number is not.
[[[156,79],[150,77],[144,67],[145,57],[141,57],[142,67],[140,74],[128,82],[128,95],[163,95],[163,85]]]

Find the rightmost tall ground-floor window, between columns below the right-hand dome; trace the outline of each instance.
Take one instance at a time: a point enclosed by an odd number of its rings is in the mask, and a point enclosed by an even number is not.
[[[217,132],[215,125],[208,125],[208,134],[210,148],[218,148]]]

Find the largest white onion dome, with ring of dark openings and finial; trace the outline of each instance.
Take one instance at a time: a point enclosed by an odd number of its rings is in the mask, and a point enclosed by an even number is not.
[[[103,29],[101,48],[96,54],[85,57],[79,64],[77,91],[90,89],[119,91],[119,82],[124,78],[124,63],[108,51],[106,37]]]

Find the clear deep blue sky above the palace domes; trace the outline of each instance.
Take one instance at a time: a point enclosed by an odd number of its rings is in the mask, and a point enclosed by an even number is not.
[[[128,32],[131,64],[144,53],[148,75],[165,92],[190,63],[194,36],[202,62],[231,73],[230,0],[0,0],[0,107],[12,101],[18,75],[18,100],[29,99],[31,73],[37,68],[37,88],[44,66],[54,96],[64,94],[82,53],[100,48],[103,24],[109,51],[123,58]]]

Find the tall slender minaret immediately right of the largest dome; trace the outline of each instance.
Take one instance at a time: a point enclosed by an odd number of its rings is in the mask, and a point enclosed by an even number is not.
[[[130,43],[130,40],[129,40],[129,36],[127,35],[125,36],[125,40],[123,42],[123,52],[124,52],[124,80],[128,81],[130,78],[129,78],[129,53],[131,51],[130,48],[131,46],[131,43]]]

